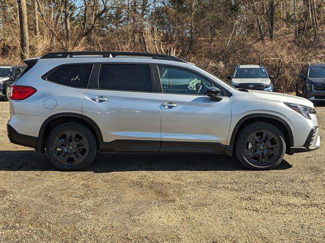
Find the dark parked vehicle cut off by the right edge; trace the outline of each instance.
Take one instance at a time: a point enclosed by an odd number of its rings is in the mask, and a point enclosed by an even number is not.
[[[311,101],[325,101],[325,64],[307,64],[301,69],[296,95]]]

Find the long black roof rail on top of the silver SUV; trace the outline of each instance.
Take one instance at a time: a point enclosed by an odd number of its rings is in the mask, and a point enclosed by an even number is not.
[[[73,56],[84,55],[103,55],[103,57],[116,57],[116,56],[136,56],[136,57],[152,57],[152,59],[170,60],[176,62],[186,62],[178,57],[159,53],[146,53],[146,52],[52,52],[45,54],[41,59],[48,58],[68,58]]]

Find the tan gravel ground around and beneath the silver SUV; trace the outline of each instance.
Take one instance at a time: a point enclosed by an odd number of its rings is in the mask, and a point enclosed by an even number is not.
[[[322,146],[272,171],[201,154],[103,154],[81,172],[9,142],[0,102],[1,242],[324,242]]]

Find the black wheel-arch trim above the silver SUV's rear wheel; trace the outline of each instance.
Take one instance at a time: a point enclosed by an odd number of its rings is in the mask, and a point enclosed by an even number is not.
[[[76,118],[85,120],[86,123],[88,123],[95,131],[96,137],[98,138],[99,142],[103,142],[102,132],[101,132],[100,128],[98,127],[98,125],[91,118],[89,118],[88,116],[82,115],[82,114],[78,114],[78,113],[63,112],[63,113],[57,113],[57,114],[49,116],[42,124],[42,126],[40,128],[39,136],[37,139],[37,144],[36,144],[36,147],[37,147],[36,150],[38,152],[42,151],[42,140],[43,140],[44,131],[45,131],[46,126],[50,123],[51,120],[59,118],[59,117],[76,117]]]

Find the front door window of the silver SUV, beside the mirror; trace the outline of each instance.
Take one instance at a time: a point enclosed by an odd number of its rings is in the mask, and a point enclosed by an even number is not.
[[[193,72],[158,66],[161,88],[164,93],[205,95],[211,82]]]

